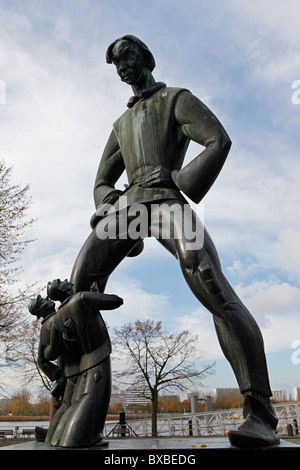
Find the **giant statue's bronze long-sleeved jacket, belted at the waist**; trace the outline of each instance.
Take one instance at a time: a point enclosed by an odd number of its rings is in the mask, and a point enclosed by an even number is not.
[[[182,168],[190,140],[205,147]],[[230,139],[216,116],[192,93],[156,83],[141,99],[134,97],[114,123],[94,187],[96,208],[116,193],[115,183],[126,170],[128,187],[119,195],[128,205],[162,199],[198,203],[219,174]],[[144,184],[161,169],[160,181]],[[169,174],[169,179],[165,176]]]

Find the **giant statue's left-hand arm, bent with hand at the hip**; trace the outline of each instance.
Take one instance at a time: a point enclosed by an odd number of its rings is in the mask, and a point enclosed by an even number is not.
[[[108,196],[119,193],[115,189],[115,183],[123,171],[124,161],[121,150],[115,132],[112,131],[102,154],[95,180],[94,201],[96,208],[106,202],[105,199]]]

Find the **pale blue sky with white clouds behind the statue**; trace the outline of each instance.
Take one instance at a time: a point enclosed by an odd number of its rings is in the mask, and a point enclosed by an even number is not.
[[[300,386],[299,24],[297,0],[2,0],[0,158],[14,182],[30,184],[37,219],[20,283],[70,276],[90,231],[99,158],[132,94],[106,48],[134,34],[156,58],[155,79],[192,91],[233,141],[198,210],[261,327],[272,388]],[[198,153],[192,144],[187,161]],[[202,360],[216,360],[204,390],[236,386],[211,315],[155,240],[107,290],[124,298],[105,316],[111,327],[153,318],[188,328]]]

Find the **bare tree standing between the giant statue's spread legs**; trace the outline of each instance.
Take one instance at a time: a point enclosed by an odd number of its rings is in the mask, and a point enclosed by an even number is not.
[[[187,390],[201,385],[213,372],[213,364],[196,368],[198,337],[187,330],[169,333],[161,322],[135,321],[114,329],[114,352],[126,359],[126,369],[117,376],[143,384],[143,396],[152,402],[152,436],[157,436],[158,394],[162,390]]]

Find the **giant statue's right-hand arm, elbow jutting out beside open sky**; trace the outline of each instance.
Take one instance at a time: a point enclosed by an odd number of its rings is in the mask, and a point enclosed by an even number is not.
[[[205,147],[185,167],[172,172],[178,188],[198,203],[220,173],[231,141],[216,116],[192,93],[183,92],[179,95],[175,119],[188,139]]]

